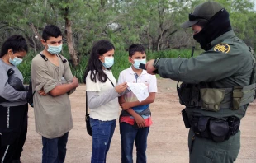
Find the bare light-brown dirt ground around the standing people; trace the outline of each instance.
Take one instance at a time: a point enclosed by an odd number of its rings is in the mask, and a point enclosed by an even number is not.
[[[183,109],[178,103],[176,82],[169,79],[158,80],[159,92],[151,105],[154,124],[148,137],[147,159],[149,163],[188,163],[187,132],[180,114]],[[74,128],[69,132],[68,151],[65,162],[90,162],[92,137],[86,131],[85,86],[80,85],[70,95]],[[236,163],[256,163],[256,101],[249,105],[241,122],[241,148]],[[29,109],[29,126],[26,144],[21,156],[23,163],[41,162],[41,137],[35,131],[34,110]],[[135,149],[134,149],[135,161]],[[119,125],[111,141],[107,163],[121,162]]]

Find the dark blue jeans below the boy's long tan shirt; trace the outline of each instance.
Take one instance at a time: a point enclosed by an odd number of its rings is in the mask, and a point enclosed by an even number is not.
[[[42,137],[43,157],[42,163],[62,163],[66,156],[66,145],[68,142],[69,132],[58,138]]]

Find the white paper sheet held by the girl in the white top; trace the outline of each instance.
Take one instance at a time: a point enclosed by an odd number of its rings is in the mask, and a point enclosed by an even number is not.
[[[127,82],[127,85],[140,102],[149,96],[148,86],[144,83]]]

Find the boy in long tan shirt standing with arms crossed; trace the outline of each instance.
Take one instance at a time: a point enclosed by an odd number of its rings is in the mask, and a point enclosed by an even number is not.
[[[78,79],[73,77],[67,59],[59,54],[63,42],[57,26],[45,26],[41,43],[45,49],[31,63],[36,132],[42,136],[42,162],[64,162],[73,128],[69,94],[78,87]]]

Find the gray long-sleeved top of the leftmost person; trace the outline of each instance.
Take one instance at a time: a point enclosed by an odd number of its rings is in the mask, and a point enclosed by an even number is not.
[[[0,96],[8,102],[2,102],[0,105],[9,106],[19,106],[25,105],[26,102],[26,91],[17,91],[12,86],[8,84],[7,71],[12,68],[14,73],[12,76],[18,77],[23,82],[23,76],[16,66],[4,63],[0,58]]]

